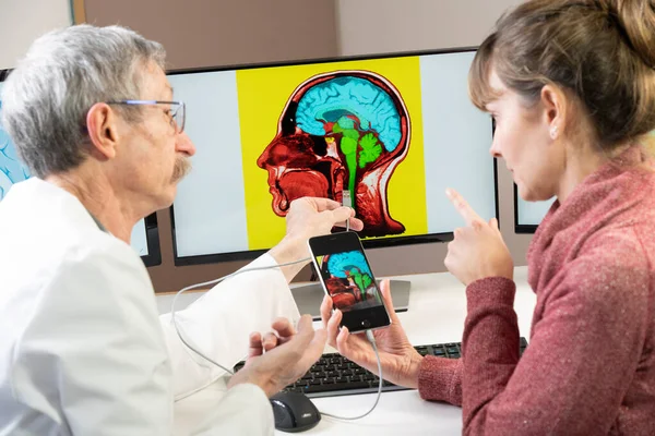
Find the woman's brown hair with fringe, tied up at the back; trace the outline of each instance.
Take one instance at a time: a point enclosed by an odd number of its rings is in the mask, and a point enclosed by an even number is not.
[[[534,102],[546,84],[574,93],[600,146],[647,143],[655,129],[655,0],[531,0],[503,15],[469,72],[472,101],[493,100],[491,69]]]

